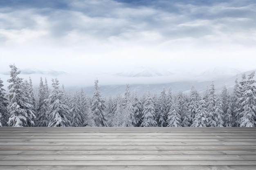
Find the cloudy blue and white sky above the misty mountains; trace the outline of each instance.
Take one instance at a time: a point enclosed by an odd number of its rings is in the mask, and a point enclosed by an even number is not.
[[[255,0],[0,0],[0,71],[256,68]]]

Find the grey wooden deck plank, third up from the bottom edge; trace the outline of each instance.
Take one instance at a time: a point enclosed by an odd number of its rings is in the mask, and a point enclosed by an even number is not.
[[[256,155],[0,155],[2,161],[256,161]]]

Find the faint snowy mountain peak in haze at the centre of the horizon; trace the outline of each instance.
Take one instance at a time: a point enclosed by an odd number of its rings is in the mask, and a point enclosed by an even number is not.
[[[115,75],[124,76],[124,77],[156,77],[156,76],[169,76],[173,75],[170,71],[167,70],[157,70],[150,67],[135,67],[132,70],[117,73]]]

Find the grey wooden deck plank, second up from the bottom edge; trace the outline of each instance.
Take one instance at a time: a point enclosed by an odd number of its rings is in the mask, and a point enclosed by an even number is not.
[[[256,161],[0,161],[1,166],[256,166]]]

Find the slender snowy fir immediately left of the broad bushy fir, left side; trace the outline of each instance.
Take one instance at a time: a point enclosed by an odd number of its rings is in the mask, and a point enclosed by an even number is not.
[[[43,79],[40,77],[39,88],[38,88],[38,102],[37,102],[37,126],[48,126],[49,118],[47,115],[48,106],[45,99],[48,98],[48,88],[46,84],[43,84]]]

